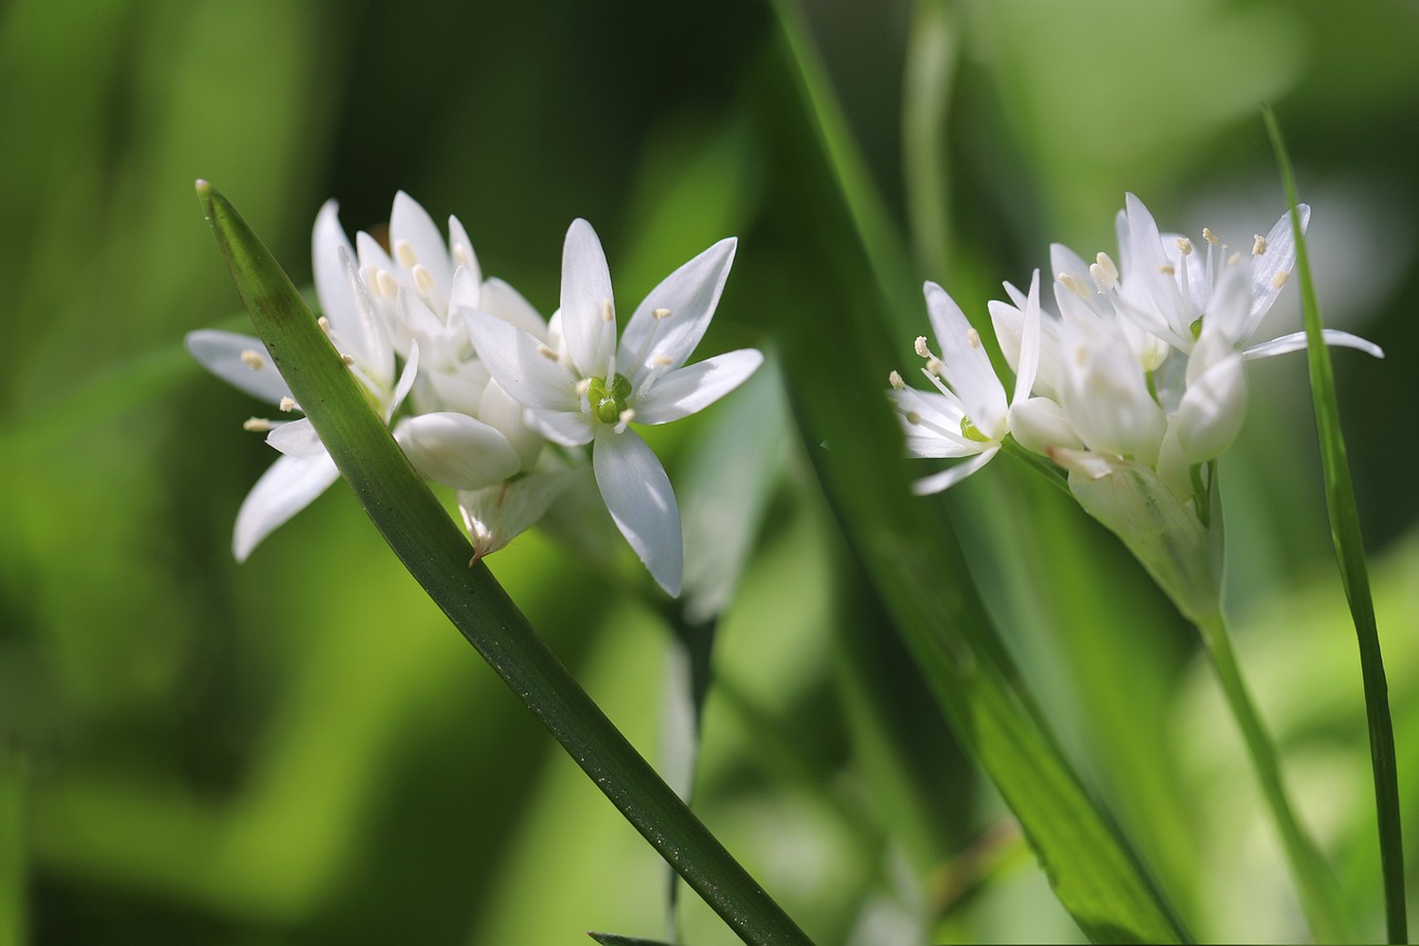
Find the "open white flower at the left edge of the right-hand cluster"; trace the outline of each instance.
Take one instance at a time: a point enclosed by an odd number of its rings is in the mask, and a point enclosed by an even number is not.
[[[981,335],[956,305],[955,300],[935,283],[927,283],[927,315],[941,345],[938,358],[917,339],[917,354],[927,359],[922,375],[935,391],[907,388],[897,372],[891,375],[887,396],[901,415],[907,435],[907,453],[920,457],[973,457],[941,473],[917,480],[912,490],[918,496],[939,493],[989,463],[1010,433],[1017,411],[1026,418],[1033,409],[1030,401],[1034,371],[1040,354],[1040,274],[1030,283],[1030,294],[1023,305],[1019,334],[1006,332],[1016,354],[1015,395],[1005,401],[1005,386],[990,365],[990,357],[981,344]],[[1002,347],[1006,341],[1002,339]]]

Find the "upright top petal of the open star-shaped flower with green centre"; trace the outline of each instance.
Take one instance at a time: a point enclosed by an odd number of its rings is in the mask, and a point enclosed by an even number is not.
[[[562,332],[572,364],[583,378],[603,376],[616,354],[613,300],[602,241],[590,223],[573,220],[562,246]],[[517,396],[512,388],[508,393]]]

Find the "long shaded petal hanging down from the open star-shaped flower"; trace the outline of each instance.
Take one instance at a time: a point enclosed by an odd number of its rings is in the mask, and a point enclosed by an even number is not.
[[[634,430],[602,426],[592,449],[596,486],[616,527],[671,598],[680,595],[684,544],[680,507],[660,459]]]

